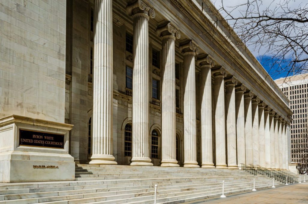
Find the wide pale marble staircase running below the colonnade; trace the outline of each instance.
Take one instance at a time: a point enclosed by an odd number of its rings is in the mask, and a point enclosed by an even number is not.
[[[183,203],[270,188],[272,179],[238,169],[76,165],[75,181],[0,183],[0,203]],[[275,181],[275,186],[283,183]]]

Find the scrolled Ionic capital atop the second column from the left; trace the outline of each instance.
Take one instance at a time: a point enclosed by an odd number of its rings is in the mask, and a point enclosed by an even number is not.
[[[136,14],[145,14],[148,18],[155,18],[154,9],[148,5],[144,0],[135,0],[126,6],[126,12],[130,16]]]

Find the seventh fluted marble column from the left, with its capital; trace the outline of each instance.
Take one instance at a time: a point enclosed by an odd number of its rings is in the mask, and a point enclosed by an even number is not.
[[[228,168],[238,169],[236,158],[236,116],[235,116],[235,86],[237,80],[234,77],[225,79],[226,84],[226,136],[227,136],[227,156]]]

